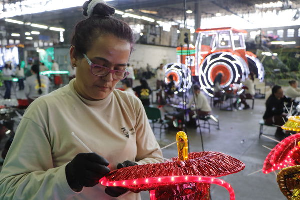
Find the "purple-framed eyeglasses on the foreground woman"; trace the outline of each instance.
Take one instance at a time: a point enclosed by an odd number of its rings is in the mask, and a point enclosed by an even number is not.
[[[127,71],[122,71],[122,70],[111,70],[107,67],[97,65],[92,63],[92,61],[87,57],[87,55],[83,54],[85,59],[88,61],[90,67],[91,67],[91,73],[94,74],[95,76],[106,76],[108,73],[113,74],[113,79],[115,80],[123,80],[125,79],[130,72]]]

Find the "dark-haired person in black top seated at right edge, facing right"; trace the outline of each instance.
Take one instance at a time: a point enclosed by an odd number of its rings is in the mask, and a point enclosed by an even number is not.
[[[284,96],[281,86],[275,85],[272,88],[272,94],[266,100],[266,111],[263,115],[265,124],[282,126],[287,121],[287,114],[284,113],[284,102],[290,103],[291,99]],[[275,136],[278,139],[284,138],[281,127],[277,127]]]

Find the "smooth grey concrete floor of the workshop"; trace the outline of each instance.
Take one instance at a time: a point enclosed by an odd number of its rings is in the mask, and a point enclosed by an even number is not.
[[[134,85],[138,85],[137,82],[135,81]],[[155,80],[150,80],[149,83],[153,87]],[[17,92],[17,96],[19,98],[24,97],[24,94]],[[205,151],[223,152],[245,163],[246,168],[243,171],[220,177],[232,185],[236,199],[285,199],[278,188],[274,173],[258,172],[248,176],[248,174],[262,168],[264,159],[269,153],[269,150],[262,145],[270,148],[276,145],[275,142],[267,138],[258,138],[258,122],[265,110],[264,102],[264,99],[255,99],[254,110],[220,111],[219,108],[213,108],[213,114],[219,116],[221,130],[216,130],[212,126],[211,133],[208,133],[207,129],[202,131]],[[274,133],[275,128],[265,127],[265,132]],[[163,133],[161,139],[159,138],[159,129],[155,129],[154,133],[161,147],[175,141],[175,130],[168,130]],[[199,130],[188,129],[187,134],[190,152],[201,151]],[[163,155],[165,158],[177,156],[176,145],[164,149]],[[141,194],[142,199],[149,199],[148,192]],[[229,199],[228,192],[215,185],[211,186],[211,197],[212,200]]]

